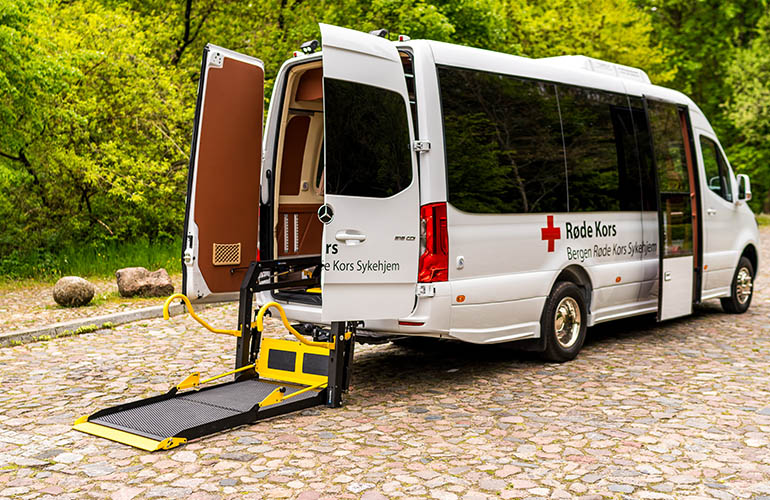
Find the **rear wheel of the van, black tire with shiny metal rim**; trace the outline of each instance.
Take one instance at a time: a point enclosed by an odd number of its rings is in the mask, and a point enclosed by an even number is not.
[[[586,339],[587,319],[583,291],[569,281],[556,283],[540,318],[540,334],[545,340],[543,357],[557,363],[575,359]]]

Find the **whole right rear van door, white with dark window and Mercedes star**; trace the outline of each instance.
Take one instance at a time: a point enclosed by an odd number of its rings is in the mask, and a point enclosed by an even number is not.
[[[324,321],[397,319],[415,304],[419,183],[401,60],[384,38],[321,25]]]

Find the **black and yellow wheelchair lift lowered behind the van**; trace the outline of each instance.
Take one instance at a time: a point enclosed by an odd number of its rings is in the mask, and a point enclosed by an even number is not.
[[[206,328],[238,337],[234,370],[203,381],[198,373],[193,373],[166,394],[81,417],[74,428],[143,450],[156,451],[312,406],[341,406],[342,393],[350,382],[355,324],[332,323],[331,331],[318,332],[318,335],[326,335],[327,338],[309,340],[288,323],[283,308],[271,302],[260,308],[256,315],[257,326],[252,329],[254,292],[262,287],[275,289],[280,286],[275,286],[275,281],[262,285],[257,283],[260,271],[264,267],[273,269],[271,265],[279,270],[286,267],[282,263],[275,265],[275,261],[268,261],[262,266],[253,262],[249,266],[241,286],[240,329],[237,331],[211,328],[194,314],[184,295],[173,295],[166,301],[167,310],[173,299],[180,298],[191,315]],[[305,262],[297,261],[297,265],[305,265]],[[305,284],[303,281],[292,281],[291,286]],[[313,278],[306,282],[311,286],[316,283]],[[298,342],[262,337],[263,318],[271,308],[278,310],[284,326]],[[200,387],[229,375],[235,375],[235,380]]]

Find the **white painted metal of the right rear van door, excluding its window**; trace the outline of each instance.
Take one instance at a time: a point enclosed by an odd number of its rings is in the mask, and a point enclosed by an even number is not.
[[[408,134],[400,146],[409,150],[406,161],[411,169],[409,186],[388,198],[325,193],[322,209],[333,208],[334,217],[323,227],[321,318],[331,322],[405,316],[414,309],[417,284],[420,187],[401,58],[396,47],[380,37],[327,24],[321,24],[321,34],[323,78],[329,86],[329,79],[353,82],[359,85],[357,91],[377,87],[403,100],[407,119],[403,125]],[[328,109],[326,85],[324,116],[328,126],[332,111]],[[331,151],[331,141],[325,142],[328,159],[336,152]],[[346,146],[347,142],[342,147]],[[328,161],[324,172],[328,179]]]

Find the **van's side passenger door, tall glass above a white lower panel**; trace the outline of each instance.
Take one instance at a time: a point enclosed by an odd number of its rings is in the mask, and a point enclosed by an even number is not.
[[[645,100],[658,185],[658,321],[692,313],[698,257],[695,160],[687,109]]]

